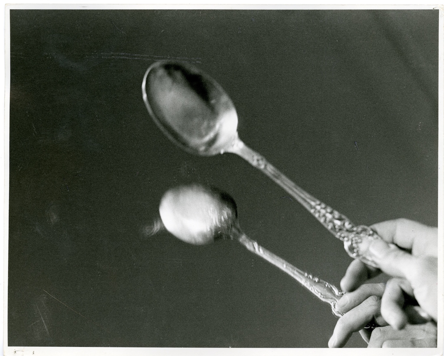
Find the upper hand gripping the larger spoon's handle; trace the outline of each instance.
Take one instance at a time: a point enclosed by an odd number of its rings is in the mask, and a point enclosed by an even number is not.
[[[383,240],[373,241],[369,246],[370,252],[381,270],[395,277],[387,282],[382,294],[383,319],[394,329],[404,328],[408,323],[408,315],[403,308],[405,296],[411,296],[436,321],[438,229],[406,219],[384,221],[372,228]],[[344,292],[355,291],[380,272],[353,260],[341,280],[341,288]]]

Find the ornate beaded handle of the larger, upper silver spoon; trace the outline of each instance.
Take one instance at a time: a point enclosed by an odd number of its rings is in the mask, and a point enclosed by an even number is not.
[[[298,187],[286,176],[271,165],[263,156],[247,147],[241,140],[237,140],[227,152],[236,153],[258,168],[284,188],[293,198],[301,203],[311,214],[329,230],[334,236],[344,241],[344,248],[353,258],[357,258],[372,267],[378,267],[373,260],[368,246],[374,239],[381,239],[368,226],[354,225],[346,216],[325,205],[314,196]]]

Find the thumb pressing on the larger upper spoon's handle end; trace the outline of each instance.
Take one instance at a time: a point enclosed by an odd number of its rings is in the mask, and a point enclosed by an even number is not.
[[[373,240],[369,252],[379,268],[390,276],[411,280],[412,276],[416,275],[416,257],[394,244],[388,244],[384,240]]]

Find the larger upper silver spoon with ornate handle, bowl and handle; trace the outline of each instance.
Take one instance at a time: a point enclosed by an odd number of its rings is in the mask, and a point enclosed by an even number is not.
[[[156,62],[145,73],[143,100],[153,120],[179,147],[199,156],[231,152],[244,158],[284,188],[338,239],[353,258],[378,267],[368,249],[381,237],[368,226],[355,226],[294,184],[238,137],[238,116],[222,87],[189,64]]]

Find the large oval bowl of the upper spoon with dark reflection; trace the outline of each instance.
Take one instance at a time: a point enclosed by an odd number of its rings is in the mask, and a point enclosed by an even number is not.
[[[238,137],[238,116],[230,97],[190,64],[152,64],[143,77],[142,96],[159,128],[190,153],[213,156]]]

